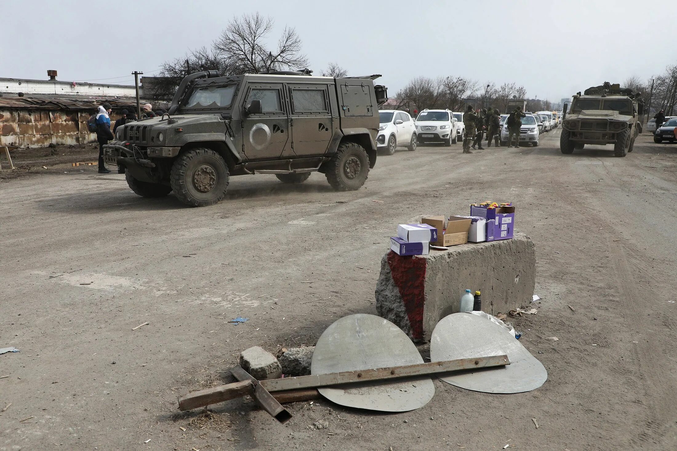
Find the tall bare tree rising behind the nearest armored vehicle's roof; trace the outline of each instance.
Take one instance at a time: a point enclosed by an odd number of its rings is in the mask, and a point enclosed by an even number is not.
[[[257,74],[307,66],[308,60],[301,53],[301,38],[294,28],[284,28],[275,49],[267,46],[274,23],[272,18],[258,12],[234,18],[214,41],[214,49],[243,72]]]

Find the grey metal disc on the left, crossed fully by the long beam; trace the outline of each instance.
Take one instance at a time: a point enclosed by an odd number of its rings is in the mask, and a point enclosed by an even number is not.
[[[315,345],[310,373],[326,374],[423,363],[416,346],[399,327],[370,314],[344,316]],[[328,400],[347,407],[406,412],[426,405],[435,394],[430,376],[320,388]]]

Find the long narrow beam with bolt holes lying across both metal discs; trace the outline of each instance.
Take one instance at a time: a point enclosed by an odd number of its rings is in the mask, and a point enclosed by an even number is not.
[[[402,377],[416,377],[450,373],[452,371],[490,368],[510,364],[506,354],[500,356],[459,358],[445,362],[428,362],[415,365],[390,366],[387,368],[367,369],[359,371],[342,371],[324,375],[284,377],[283,379],[267,379],[261,385],[271,393],[274,391],[294,390],[302,388],[319,388],[344,383],[364,381],[386,381]]]

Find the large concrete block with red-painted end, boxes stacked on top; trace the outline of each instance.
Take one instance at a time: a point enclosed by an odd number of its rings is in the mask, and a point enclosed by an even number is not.
[[[535,285],[536,249],[523,233],[427,256],[389,251],[381,259],[376,311],[414,341],[430,341],[437,322],[458,312],[464,289],[479,289],[482,310],[496,315],[529,305]]]

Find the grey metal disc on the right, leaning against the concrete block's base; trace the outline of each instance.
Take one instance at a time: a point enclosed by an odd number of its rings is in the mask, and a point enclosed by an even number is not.
[[[439,379],[468,390],[522,393],[543,385],[548,371],[518,339],[498,324],[470,313],[442,318],[431,336],[431,361],[508,354],[510,364],[467,371]]]

